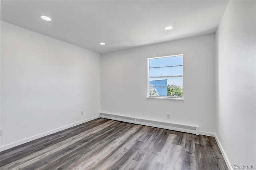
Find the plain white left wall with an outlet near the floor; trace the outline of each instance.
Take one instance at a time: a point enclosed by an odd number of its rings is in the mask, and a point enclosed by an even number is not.
[[[99,111],[100,54],[1,21],[2,148]]]

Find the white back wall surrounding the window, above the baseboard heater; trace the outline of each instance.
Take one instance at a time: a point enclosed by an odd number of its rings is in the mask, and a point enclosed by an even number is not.
[[[147,58],[181,53],[184,100],[146,98]],[[101,112],[196,125],[214,133],[215,34],[102,54]]]

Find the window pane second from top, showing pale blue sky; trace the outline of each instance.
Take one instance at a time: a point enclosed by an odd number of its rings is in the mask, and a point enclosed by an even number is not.
[[[183,66],[150,68],[149,77],[183,75]]]

